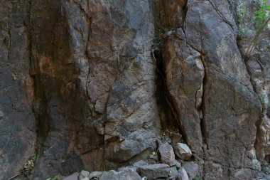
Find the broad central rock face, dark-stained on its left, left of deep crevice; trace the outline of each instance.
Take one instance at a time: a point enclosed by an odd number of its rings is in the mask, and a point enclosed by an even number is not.
[[[36,162],[34,177],[100,166],[118,169],[156,149],[161,122],[154,98],[152,11],[150,1],[139,0],[31,6],[36,17],[31,21],[31,74],[40,85],[34,106],[42,117],[38,131],[46,154]]]

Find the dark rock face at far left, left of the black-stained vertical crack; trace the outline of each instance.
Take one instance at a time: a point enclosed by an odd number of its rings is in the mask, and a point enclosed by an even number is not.
[[[0,179],[18,174],[35,153],[28,16],[28,1],[0,1]]]

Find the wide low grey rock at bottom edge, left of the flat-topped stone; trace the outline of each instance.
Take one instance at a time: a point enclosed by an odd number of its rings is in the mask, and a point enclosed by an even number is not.
[[[99,180],[141,180],[141,176],[131,169],[124,171],[108,171],[103,172],[102,176],[99,177]]]

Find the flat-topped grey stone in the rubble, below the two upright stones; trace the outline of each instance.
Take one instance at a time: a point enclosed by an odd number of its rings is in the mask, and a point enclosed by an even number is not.
[[[167,178],[170,174],[170,166],[167,164],[150,164],[138,167],[138,173],[147,179]]]

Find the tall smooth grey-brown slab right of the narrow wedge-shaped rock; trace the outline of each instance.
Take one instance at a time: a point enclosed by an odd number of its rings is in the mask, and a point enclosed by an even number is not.
[[[207,146],[203,148],[203,173],[205,179],[213,176],[229,179],[242,176],[239,175],[243,174],[242,168],[249,166],[246,162],[250,160],[245,154],[253,148],[254,121],[258,120],[259,105],[250,90],[247,72],[241,68],[244,62],[237,49],[234,29],[230,26],[234,21],[227,2],[216,0],[215,4],[189,1],[185,38],[191,47],[202,52],[205,61],[203,120],[200,126],[202,134],[207,137],[203,141]],[[220,12],[215,11],[217,7],[222,7],[218,10]],[[237,147],[237,144],[247,149]]]

